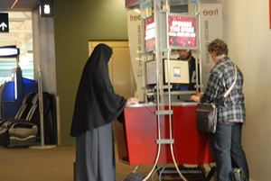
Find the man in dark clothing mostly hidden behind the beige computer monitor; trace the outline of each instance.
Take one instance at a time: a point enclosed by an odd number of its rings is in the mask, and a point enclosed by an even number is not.
[[[188,90],[196,90],[196,60],[192,57],[192,50],[178,50],[178,54],[178,59],[189,61],[190,85],[188,86]]]

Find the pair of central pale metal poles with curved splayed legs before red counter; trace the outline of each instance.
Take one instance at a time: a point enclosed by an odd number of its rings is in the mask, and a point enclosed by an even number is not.
[[[178,174],[181,176],[182,180],[187,181],[187,179],[182,176],[182,173],[176,163],[175,160],[175,155],[173,151],[173,144],[174,144],[174,139],[173,139],[173,128],[172,128],[172,116],[173,116],[173,110],[172,110],[172,94],[171,94],[171,79],[170,79],[170,51],[172,47],[169,45],[169,30],[168,30],[168,15],[169,15],[169,1],[161,1],[161,0],[154,0],[154,24],[155,24],[155,59],[156,59],[156,104],[157,104],[157,131],[158,131],[158,138],[156,140],[156,144],[158,144],[158,151],[157,151],[157,157],[154,162],[154,167],[150,171],[150,173],[145,176],[145,180],[147,180],[152,173],[154,172],[155,167],[157,166],[158,159],[160,157],[161,153],[161,145],[167,144],[170,145],[171,149],[171,155],[173,158],[173,164],[178,172]],[[161,7],[164,7],[164,9],[161,9]],[[164,31],[164,25],[166,27],[166,30]],[[165,32],[165,33],[164,33]],[[164,40],[164,37],[166,39]],[[196,36],[196,39],[198,39],[198,36]],[[180,48],[180,49],[187,49],[185,47]],[[196,50],[197,47],[194,47],[194,50]],[[145,49],[143,49],[145,50]],[[163,67],[163,62],[162,62],[162,57],[163,53],[166,52],[167,54],[167,77],[168,77],[168,83],[167,86],[164,86],[164,75],[162,67]],[[196,70],[196,72],[198,72]],[[197,84],[198,84],[198,75],[197,75]],[[167,94],[167,99],[165,103],[164,99],[164,89],[166,89]],[[198,87],[197,87],[198,90]],[[168,104],[167,109],[164,108],[164,106],[160,106],[163,104]],[[169,117],[169,138],[164,139],[161,137],[161,117],[164,115],[168,115]]]

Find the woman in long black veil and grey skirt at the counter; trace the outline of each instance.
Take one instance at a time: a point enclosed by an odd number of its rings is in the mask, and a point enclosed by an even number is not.
[[[138,100],[115,94],[108,75],[111,56],[111,48],[98,44],[80,79],[70,131],[76,137],[75,181],[116,181],[112,122]]]

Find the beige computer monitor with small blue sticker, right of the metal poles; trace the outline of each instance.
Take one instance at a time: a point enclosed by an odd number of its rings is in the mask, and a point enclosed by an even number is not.
[[[170,83],[177,85],[189,85],[189,62],[180,59],[170,59]],[[168,83],[167,59],[164,59],[164,83]]]

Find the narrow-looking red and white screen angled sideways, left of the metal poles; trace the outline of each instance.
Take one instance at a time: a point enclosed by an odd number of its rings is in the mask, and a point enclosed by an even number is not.
[[[155,24],[154,16],[145,20],[145,52],[155,49]]]

